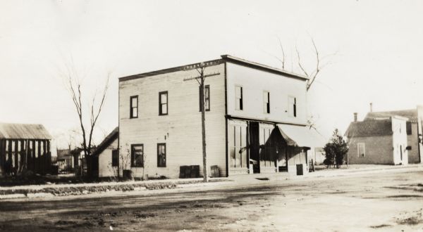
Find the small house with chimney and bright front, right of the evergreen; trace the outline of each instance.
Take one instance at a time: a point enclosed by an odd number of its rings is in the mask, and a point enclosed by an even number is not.
[[[407,165],[406,117],[351,122],[348,137],[348,163],[357,165]]]

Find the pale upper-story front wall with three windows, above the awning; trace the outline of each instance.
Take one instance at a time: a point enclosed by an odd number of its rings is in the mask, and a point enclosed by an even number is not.
[[[233,63],[226,67],[228,115],[252,119],[305,124],[307,98],[305,79],[276,75]],[[243,87],[243,110],[235,110],[235,85]],[[270,93],[270,113],[263,108],[263,91]],[[288,115],[288,96],[297,101],[297,117]]]

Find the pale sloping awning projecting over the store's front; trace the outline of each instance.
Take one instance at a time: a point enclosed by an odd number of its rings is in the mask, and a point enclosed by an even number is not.
[[[288,124],[277,125],[288,146],[319,148],[324,146],[324,138],[315,129]]]

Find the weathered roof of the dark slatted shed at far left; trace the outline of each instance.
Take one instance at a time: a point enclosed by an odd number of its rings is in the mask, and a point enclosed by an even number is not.
[[[42,124],[0,123],[0,138],[51,139],[51,135]]]

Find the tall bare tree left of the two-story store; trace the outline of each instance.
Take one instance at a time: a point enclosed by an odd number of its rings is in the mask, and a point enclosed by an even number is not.
[[[82,84],[80,82],[80,78],[78,76],[78,72],[75,70],[75,66],[72,65],[71,67],[66,66],[65,77],[67,81],[67,87],[69,94],[71,95],[73,105],[75,106],[75,110],[78,115],[78,120],[80,123],[80,129],[82,132],[82,150],[84,151],[85,159],[87,161],[87,174],[91,176],[91,152],[92,152],[92,134],[94,132],[94,128],[96,126],[97,120],[99,118],[100,113],[102,112],[102,108],[104,106],[104,100],[106,99],[107,90],[109,89],[109,78],[111,73],[109,72],[106,79],[106,84],[104,84],[104,89],[99,96],[99,100],[97,100],[97,91],[92,97],[92,101],[90,101],[89,108],[87,112],[87,116],[85,116],[85,110],[83,107],[82,101]],[[90,125],[86,127],[84,122],[89,119]]]

